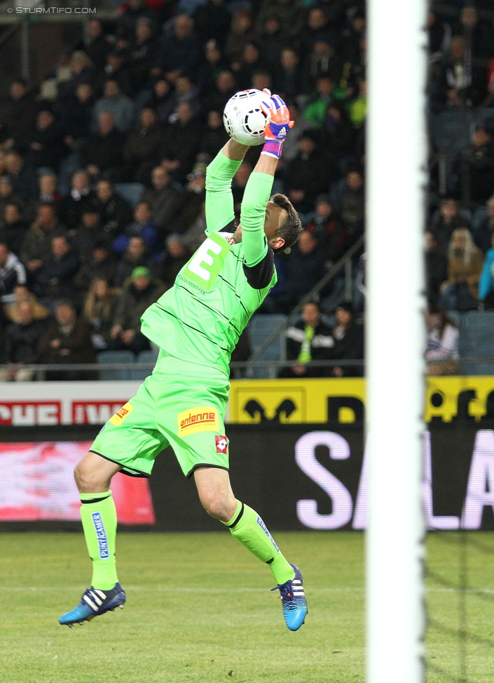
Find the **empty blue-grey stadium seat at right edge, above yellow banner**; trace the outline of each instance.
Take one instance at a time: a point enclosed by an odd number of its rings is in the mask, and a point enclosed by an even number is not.
[[[461,365],[462,374],[494,374],[493,330],[494,311],[469,311],[461,316],[460,358],[464,361]]]

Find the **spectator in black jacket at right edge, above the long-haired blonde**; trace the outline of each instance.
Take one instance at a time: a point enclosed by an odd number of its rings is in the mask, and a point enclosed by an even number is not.
[[[474,206],[485,204],[494,191],[494,142],[490,125],[483,123],[476,127],[472,144],[462,150],[454,165],[462,195]]]

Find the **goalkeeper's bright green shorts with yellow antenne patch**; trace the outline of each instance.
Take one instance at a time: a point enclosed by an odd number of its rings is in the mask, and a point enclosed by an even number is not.
[[[228,470],[229,387],[224,374],[208,374],[207,367],[160,351],[153,374],[104,425],[90,451],[133,477],[149,477],[156,456],[169,445],[186,477],[196,467]]]

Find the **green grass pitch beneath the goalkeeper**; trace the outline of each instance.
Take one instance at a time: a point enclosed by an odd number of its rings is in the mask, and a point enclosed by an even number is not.
[[[488,598],[494,535],[470,537],[483,548],[467,546],[469,582]],[[363,682],[364,537],[277,533],[275,540],[304,574],[309,614],[296,633],[284,626],[268,568],[228,533],[121,533],[125,609],[71,629],[57,618],[88,586],[83,536],[0,534],[0,682]],[[427,546],[430,568],[457,582],[458,543],[430,536]],[[458,628],[458,604],[458,593],[428,582],[431,619]],[[493,680],[492,608],[467,593],[467,680],[474,683]],[[459,652],[453,633],[430,628],[427,659],[449,678],[429,671],[427,683],[459,680]]]

